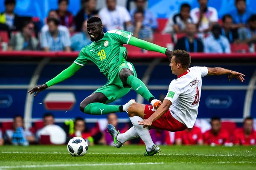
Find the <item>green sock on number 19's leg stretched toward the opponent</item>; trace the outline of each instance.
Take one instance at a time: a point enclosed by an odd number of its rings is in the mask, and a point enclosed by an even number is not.
[[[134,91],[137,92],[137,94],[140,94],[141,96],[143,96],[147,101],[149,101],[150,98],[155,98],[150,91],[148,90],[148,88],[146,87],[146,85],[137,77],[135,77],[134,75],[131,75],[127,78],[127,84],[131,85],[131,87],[134,89]]]

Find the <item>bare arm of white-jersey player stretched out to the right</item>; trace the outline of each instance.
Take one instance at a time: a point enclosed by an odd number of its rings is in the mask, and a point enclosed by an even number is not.
[[[239,79],[241,82],[244,82],[244,74],[241,74],[236,71],[228,70],[221,67],[215,67],[215,68],[208,68],[208,74],[207,76],[220,76],[220,75],[227,75],[229,81],[231,81],[233,78]]]

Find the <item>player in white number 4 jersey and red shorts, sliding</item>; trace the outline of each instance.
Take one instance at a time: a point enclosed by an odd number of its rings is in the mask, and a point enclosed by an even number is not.
[[[172,132],[192,128],[198,115],[202,77],[228,75],[229,80],[236,78],[244,81],[244,74],[225,68],[189,68],[191,57],[186,51],[175,50],[172,54],[172,58],[169,58],[170,66],[177,79],[170,83],[163,104],[157,110],[151,105],[131,104],[128,115],[134,126],[125,133],[119,133],[112,125],[108,125],[116,147],[140,137],[146,145],[145,156],[158,153],[160,148],[153,143],[148,127]]]

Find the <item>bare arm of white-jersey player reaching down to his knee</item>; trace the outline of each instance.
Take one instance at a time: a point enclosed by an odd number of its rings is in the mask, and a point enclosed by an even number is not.
[[[164,99],[162,105],[160,105],[157,111],[155,111],[155,113],[153,113],[148,119],[144,119],[141,122],[139,121],[139,125],[151,126],[152,122],[163,116],[163,114],[168,111],[171,105],[172,102],[170,100]]]

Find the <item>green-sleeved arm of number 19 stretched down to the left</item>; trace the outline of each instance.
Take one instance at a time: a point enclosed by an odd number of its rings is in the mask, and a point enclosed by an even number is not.
[[[66,68],[64,71],[62,71],[60,74],[58,74],[56,77],[54,77],[53,79],[49,80],[48,82],[46,82],[43,85],[38,85],[38,86],[32,88],[28,92],[29,92],[29,94],[33,94],[36,92],[34,95],[34,96],[36,96],[36,95],[38,95],[39,92],[44,91],[45,89],[49,88],[50,86],[55,85],[59,82],[62,82],[65,79],[68,79],[69,77],[73,76],[76,73],[76,71],[78,71],[81,67],[82,67],[81,65],[73,63],[68,68]]]

